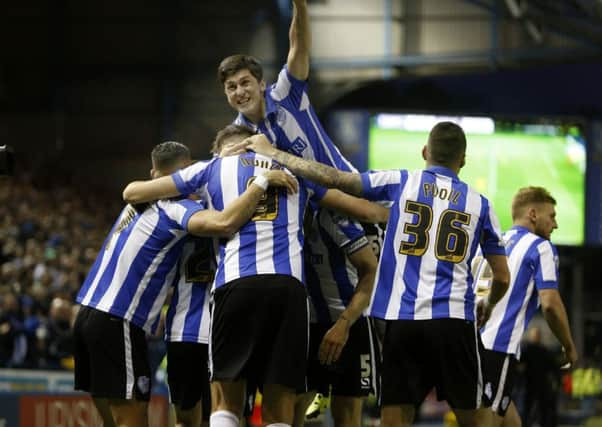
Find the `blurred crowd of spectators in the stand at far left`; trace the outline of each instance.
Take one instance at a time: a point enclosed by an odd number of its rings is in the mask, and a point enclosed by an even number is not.
[[[0,184],[0,367],[70,367],[75,296],[120,206],[28,176]]]

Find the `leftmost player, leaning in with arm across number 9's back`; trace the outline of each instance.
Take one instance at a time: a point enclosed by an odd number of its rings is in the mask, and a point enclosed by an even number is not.
[[[151,176],[190,164],[188,148],[159,144]],[[281,171],[267,178],[294,186]],[[228,236],[253,214],[265,188],[250,186],[222,212],[187,199],[160,200],[142,213],[126,206],[109,232],[77,296],[73,327],[75,389],[88,391],[106,426],[148,425],[150,367],[146,333],[174,278],[186,234]]]

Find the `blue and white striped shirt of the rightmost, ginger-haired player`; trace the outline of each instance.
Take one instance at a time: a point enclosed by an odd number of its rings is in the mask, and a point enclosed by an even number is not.
[[[558,253],[549,240],[520,226],[504,233],[504,241],[510,286],[481,329],[481,338],[486,349],[519,358],[522,335],[539,307],[537,291],[558,289]],[[474,273],[479,295],[486,295],[491,273],[485,259],[479,259]]]

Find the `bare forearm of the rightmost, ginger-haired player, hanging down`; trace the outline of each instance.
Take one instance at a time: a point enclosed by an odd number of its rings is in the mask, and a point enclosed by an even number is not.
[[[577,361],[577,348],[571,336],[569,319],[566,315],[562,298],[557,289],[542,289],[539,291],[539,300],[541,302],[541,311],[546,319],[548,326],[564,347],[567,362],[574,365]]]

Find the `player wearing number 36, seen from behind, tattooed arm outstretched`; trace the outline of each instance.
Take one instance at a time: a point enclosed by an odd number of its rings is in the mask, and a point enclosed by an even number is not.
[[[489,316],[509,273],[489,201],[457,176],[466,152],[462,129],[437,124],[422,151],[426,169],[415,172],[341,172],[277,150],[260,135],[247,145],[321,185],[393,202],[368,308],[387,320],[381,425],[410,425],[433,386],[460,425],[475,425],[482,392],[475,311],[479,322]],[[479,243],[493,282],[476,310],[470,262]]]

